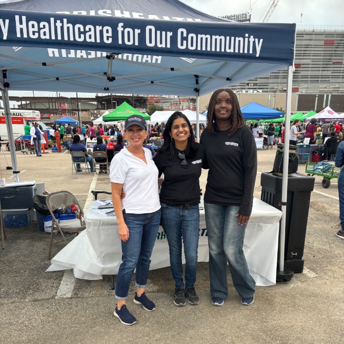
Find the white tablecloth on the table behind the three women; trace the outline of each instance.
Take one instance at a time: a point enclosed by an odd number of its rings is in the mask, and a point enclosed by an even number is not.
[[[254,198],[245,233],[244,253],[257,286],[276,283],[281,214],[278,209]],[[102,275],[117,274],[122,250],[116,217],[99,215],[89,209],[85,212],[85,221],[87,229],[51,259],[52,264],[47,271],[74,269],[74,276],[82,279],[102,279]],[[199,228],[198,261],[209,261],[204,210],[200,210]],[[170,266],[168,242],[162,227],[159,228],[151,261],[151,270]]]

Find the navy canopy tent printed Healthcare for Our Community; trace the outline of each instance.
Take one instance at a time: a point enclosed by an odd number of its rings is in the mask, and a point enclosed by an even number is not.
[[[0,89],[8,136],[9,89],[195,96],[199,113],[200,94],[287,67],[290,114],[294,45],[295,24],[228,22],[177,0],[3,4]],[[13,140],[10,151],[18,181]]]

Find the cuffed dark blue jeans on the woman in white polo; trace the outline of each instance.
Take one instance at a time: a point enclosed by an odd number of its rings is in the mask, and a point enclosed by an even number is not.
[[[151,255],[160,224],[160,209],[154,213],[127,214],[124,221],[129,229],[129,240],[122,242],[122,264],[116,278],[115,298],[128,298],[131,277],[136,268],[135,285],[146,288]]]

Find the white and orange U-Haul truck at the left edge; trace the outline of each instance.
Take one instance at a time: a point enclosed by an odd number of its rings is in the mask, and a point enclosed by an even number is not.
[[[54,130],[49,129],[44,123],[41,122],[41,114],[39,111],[11,109],[11,122],[13,128],[13,138],[24,135],[24,127],[27,124],[32,127],[33,122],[38,122],[43,127],[43,130],[49,130],[50,136],[54,137]],[[0,110],[0,137],[2,140],[8,140],[4,110]]]

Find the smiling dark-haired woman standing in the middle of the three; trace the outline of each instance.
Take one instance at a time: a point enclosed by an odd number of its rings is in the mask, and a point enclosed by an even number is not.
[[[203,147],[195,142],[189,119],[174,112],[164,130],[164,144],[153,160],[164,173],[161,186],[161,225],[166,231],[170,248],[170,264],[175,281],[174,304],[184,306],[185,298],[197,305],[199,298],[194,284],[197,271],[199,236],[199,177],[202,168]],[[185,285],[181,264],[181,239],[185,253]]]

